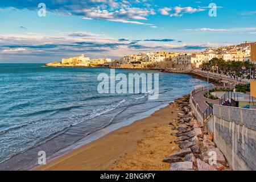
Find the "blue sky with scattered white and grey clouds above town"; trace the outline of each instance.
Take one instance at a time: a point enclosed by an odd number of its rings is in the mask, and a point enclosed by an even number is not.
[[[200,52],[256,42],[256,1],[2,0],[0,27],[0,63]]]

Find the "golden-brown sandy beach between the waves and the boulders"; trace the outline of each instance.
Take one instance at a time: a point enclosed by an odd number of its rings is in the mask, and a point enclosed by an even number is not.
[[[168,126],[178,108],[174,102],[33,170],[168,170],[163,158],[179,150]]]

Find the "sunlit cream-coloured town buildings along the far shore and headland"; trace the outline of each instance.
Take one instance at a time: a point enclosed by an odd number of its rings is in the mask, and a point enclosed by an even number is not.
[[[251,49],[255,51],[256,43],[245,42],[234,46],[208,48],[202,52],[140,52],[137,55],[123,56],[119,60],[108,58],[92,59],[84,55],[64,58],[60,62],[48,63],[48,67],[110,67],[128,69],[183,69],[202,68],[213,58],[224,61],[250,61]]]

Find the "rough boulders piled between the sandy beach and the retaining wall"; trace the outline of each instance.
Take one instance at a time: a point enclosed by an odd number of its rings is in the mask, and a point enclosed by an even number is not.
[[[180,150],[163,159],[170,163],[170,171],[224,171],[230,170],[224,155],[208,135],[204,127],[196,121],[189,106],[189,96],[176,100],[179,106],[178,118],[169,123],[177,138]]]

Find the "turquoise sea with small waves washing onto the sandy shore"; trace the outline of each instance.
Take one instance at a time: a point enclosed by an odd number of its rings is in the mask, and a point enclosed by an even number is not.
[[[0,64],[0,169],[26,169],[37,152],[47,157],[114,123],[121,123],[205,84],[189,75],[159,73],[159,98],[147,94],[99,94],[97,76],[108,68],[48,68]]]

